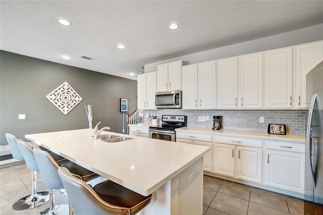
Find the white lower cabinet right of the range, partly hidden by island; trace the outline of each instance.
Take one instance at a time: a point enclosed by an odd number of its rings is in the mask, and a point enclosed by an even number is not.
[[[176,131],[176,142],[196,144],[196,145],[206,145],[211,148],[203,156],[203,170],[211,172],[212,171],[212,135],[179,132]]]

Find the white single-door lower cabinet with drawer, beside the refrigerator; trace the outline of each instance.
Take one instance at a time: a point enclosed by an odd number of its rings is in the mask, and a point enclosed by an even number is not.
[[[304,192],[304,144],[266,141],[264,184]]]

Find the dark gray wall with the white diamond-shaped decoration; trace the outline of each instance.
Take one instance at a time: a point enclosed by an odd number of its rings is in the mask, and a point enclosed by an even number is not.
[[[84,105],[93,106],[93,126],[99,121],[122,133],[120,98],[128,98],[128,111],[137,106],[137,81],[0,51],[0,144],[6,132],[25,134],[88,128]],[[64,115],[45,98],[67,81],[83,98]],[[18,120],[25,114],[25,120]],[[125,118],[126,119],[126,118]],[[127,126],[125,123],[125,134]]]

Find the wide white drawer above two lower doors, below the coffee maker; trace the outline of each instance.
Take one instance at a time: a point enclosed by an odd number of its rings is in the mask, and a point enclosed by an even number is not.
[[[226,144],[234,144],[234,145],[244,145],[251,147],[262,147],[262,140],[258,139],[246,139],[239,137],[219,137],[214,135],[213,140],[216,143],[226,143]]]

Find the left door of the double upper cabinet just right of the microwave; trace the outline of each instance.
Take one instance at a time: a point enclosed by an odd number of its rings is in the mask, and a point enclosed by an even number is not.
[[[197,109],[197,65],[183,67],[182,74],[183,109]]]

